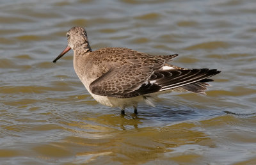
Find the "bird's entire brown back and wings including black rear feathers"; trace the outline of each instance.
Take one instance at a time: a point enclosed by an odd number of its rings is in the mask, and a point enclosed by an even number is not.
[[[102,58],[94,60],[93,65],[104,74],[90,84],[90,91],[107,97],[129,98],[175,89],[204,94],[206,82],[212,81],[208,77],[220,73],[207,68],[160,70],[177,54],[150,56],[123,48],[99,49],[97,54]]]

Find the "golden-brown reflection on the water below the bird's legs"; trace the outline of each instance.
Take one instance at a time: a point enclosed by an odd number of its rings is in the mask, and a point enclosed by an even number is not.
[[[86,118],[86,121],[93,124],[67,123],[68,128],[70,125],[72,127],[67,130],[74,135],[58,143],[59,147],[65,147],[66,150],[81,148],[76,152],[74,162],[107,159],[124,161],[127,164],[134,161],[143,163],[156,159],[161,153],[171,153],[176,150],[174,148],[183,145],[207,146],[206,148],[215,146],[211,138],[197,130],[196,122],[181,122],[166,127],[138,128],[138,124],[141,123],[138,119],[120,118],[117,115],[103,115],[97,120]]]

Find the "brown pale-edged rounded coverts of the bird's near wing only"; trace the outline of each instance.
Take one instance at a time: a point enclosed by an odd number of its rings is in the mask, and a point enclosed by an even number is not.
[[[135,64],[111,68],[90,84],[90,90],[96,95],[108,97],[135,97],[132,92],[148,81],[154,73],[153,68],[149,65],[138,67]]]

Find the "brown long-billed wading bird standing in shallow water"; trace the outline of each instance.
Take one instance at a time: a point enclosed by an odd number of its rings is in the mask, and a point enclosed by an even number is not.
[[[178,54],[150,55],[124,47],[105,47],[92,51],[86,30],[76,26],[67,32],[67,47],[54,59],[56,63],[70,49],[74,51],[74,70],[92,97],[105,106],[133,107],[154,105],[154,98],[171,91],[190,91],[205,95],[221,71],[209,68],[181,68],[170,62]]]

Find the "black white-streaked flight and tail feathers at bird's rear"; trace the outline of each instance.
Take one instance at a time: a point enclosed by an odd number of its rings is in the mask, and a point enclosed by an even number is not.
[[[208,79],[213,75],[219,74],[216,69],[181,69],[181,70],[156,70],[148,79],[147,83],[143,83],[141,87],[125,93],[125,96],[130,95],[147,95],[150,93],[173,91],[191,91],[194,93],[205,94],[204,91],[209,85],[206,82],[212,81]]]

